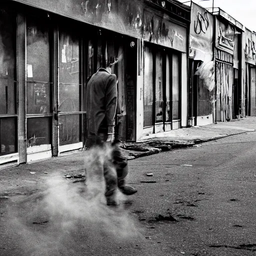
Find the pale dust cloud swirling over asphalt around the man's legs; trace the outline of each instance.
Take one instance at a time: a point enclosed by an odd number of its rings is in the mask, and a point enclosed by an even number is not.
[[[138,220],[122,203],[124,195],[117,192],[118,207],[106,205],[102,164],[110,152],[109,148],[85,151],[86,185],[54,173],[40,191],[14,201],[8,215],[20,239],[20,255],[63,255],[68,247],[70,255],[78,255],[77,241],[88,253],[107,241],[142,239]]]

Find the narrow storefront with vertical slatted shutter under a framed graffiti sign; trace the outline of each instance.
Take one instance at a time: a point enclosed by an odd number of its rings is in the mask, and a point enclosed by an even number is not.
[[[217,12],[217,13],[216,13]],[[230,121],[242,114],[241,35],[243,26],[218,8],[215,15],[216,119]]]

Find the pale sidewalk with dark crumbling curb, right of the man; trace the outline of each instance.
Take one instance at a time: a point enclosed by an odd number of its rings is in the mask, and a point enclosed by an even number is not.
[[[234,119],[230,122],[217,122],[204,126],[193,126],[166,132],[147,134],[141,137],[136,143],[124,143],[122,148],[133,150],[126,153],[131,157],[139,157],[157,153],[153,148],[163,151],[176,147],[195,146],[198,143],[214,140],[230,135],[256,130],[256,117],[248,116],[241,119]],[[146,151],[147,149],[147,151]],[[136,152],[143,151],[143,152]]]

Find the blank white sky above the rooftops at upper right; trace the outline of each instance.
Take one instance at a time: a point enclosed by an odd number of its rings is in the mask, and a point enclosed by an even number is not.
[[[193,0],[193,2],[203,7],[212,7],[212,0]],[[256,0],[214,0],[214,7],[221,8],[248,29],[256,31]]]

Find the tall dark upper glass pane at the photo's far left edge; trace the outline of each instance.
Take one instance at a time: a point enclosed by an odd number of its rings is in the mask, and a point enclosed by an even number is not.
[[[16,19],[0,8],[0,114],[15,113]]]

